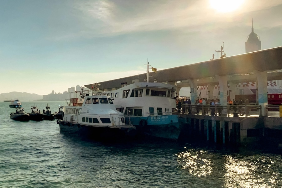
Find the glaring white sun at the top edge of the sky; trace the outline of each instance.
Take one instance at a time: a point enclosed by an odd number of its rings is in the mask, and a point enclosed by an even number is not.
[[[211,7],[218,12],[231,12],[239,8],[244,0],[210,0]]]

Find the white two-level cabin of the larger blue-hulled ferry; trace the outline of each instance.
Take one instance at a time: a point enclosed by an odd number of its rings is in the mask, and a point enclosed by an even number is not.
[[[131,117],[172,115],[174,95],[174,86],[154,82],[137,82],[111,91],[117,110]]]

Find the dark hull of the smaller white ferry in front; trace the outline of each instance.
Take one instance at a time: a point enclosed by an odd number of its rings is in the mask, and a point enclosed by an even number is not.
[[[63,120],[57,120],[60,131],[69,134],[83,135],[83,137],[97,140],[120,140],[134,138],[136,129],[132,126],[122,128],[94,127],[82,125],[79,123],[70,123]]]

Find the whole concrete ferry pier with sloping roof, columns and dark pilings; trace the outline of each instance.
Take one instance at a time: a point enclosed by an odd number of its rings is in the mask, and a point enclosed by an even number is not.
[[[208,60],[191,65],[184,65],[165,70],[158,70],[150,75],[150,82],[166,82],[175,86],[179,94],[181,87],[190,87],[191,108],[198,108],[195,104],[199,86],[207,86],[209,99],[212,99],[213,88],[219,87],[221,115],[211,116],[201,113],[181,114],[188,127],[186,136],[195,136],[216,144],[248,143],[258,138],[278,138],[272,145],[278,147],[282,143],[282,118],[271,114],[277,111],[269,110],[268,81],[282,80],[282,46],[267,50],[259,50],[231,57]],[[121,83],[131,84],[133,81],[143,81],[146,74],[119,78],[111,81],[99,82],[103,90],[111,91],[120,87]],[[235,86],[238,82],[256,82],[255,104],[243,106],[247,110],[243,116],[232,112],[227,102],[235,98]],[[85,85],[91,89],[92,84]],[[228,86],[228,89],[227,89]],[[195,106],[193,106],[195,105]],[[277,105],[276,105],[277,106]],[[205,108],[211,108],[208,105]],[[271,108],[272,109],[272,108]],[[279,111],[279,110],[278,110]],[[184,135],[185,136],[185,135]]]

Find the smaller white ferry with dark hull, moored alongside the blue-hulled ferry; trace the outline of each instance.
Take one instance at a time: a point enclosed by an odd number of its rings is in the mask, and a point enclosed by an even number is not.
[[[61,131],[83,133],[91,138],[122,138],[136,133],[134,126],[125,123],[109,96],[90,95],[89,91],[86,94],[82,88],[80,97],[66,100],[63,119],[57,120]]]

